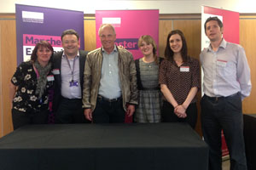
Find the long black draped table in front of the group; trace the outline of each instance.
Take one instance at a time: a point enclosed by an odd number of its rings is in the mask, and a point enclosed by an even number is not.
[[[179,123],[31,125],[0,139],[4,170],[206,170],[207,165],[207,144]]]

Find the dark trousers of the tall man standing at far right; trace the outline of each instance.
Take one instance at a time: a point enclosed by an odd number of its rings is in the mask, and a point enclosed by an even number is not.
[[[241,94],[201,99],[201,125],[209,146],[209,170],[222,169],[221,130],[230,151],[230,170],[247,170],[243,139]]]

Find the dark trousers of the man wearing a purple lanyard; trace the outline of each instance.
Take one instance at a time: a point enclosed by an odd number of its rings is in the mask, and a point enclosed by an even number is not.
[[[82,99],[61,98],[58,111],[55,115],[56,123],[85,123]]]

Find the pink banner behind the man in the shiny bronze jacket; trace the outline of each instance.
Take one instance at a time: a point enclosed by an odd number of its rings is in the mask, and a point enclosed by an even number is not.
[[[137,40],[150,35],[158,46],[159,10],[96,10],[96,47],[102,46],[98,30],[102,24],[112,24],[116,31],[116,44],[133,54],[134,59],[143,57]]]

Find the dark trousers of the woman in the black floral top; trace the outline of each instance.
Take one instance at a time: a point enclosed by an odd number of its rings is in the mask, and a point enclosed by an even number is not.
[[[14,130],[27,124],[46,124],[48,116],[48,110],[23,112],[12,109]]]

